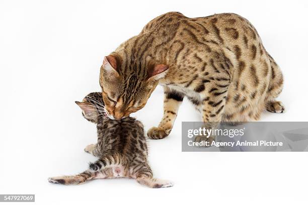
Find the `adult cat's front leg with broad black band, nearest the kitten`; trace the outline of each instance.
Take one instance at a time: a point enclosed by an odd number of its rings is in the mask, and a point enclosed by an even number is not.
[[[152,127],[147,131],[150,139],[163,139],[170,134],[184,98],[182,93],[171,90],[167,86],[164,86],[164,93],[164,116],[158,127]]]

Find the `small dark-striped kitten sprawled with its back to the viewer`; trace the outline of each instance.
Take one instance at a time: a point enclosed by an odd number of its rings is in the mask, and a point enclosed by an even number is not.
[[[88,94],[83,102],[76,101],[83,110],[83,116],[97,124],[97,144],[88,145],[85,151],[99,157],[89,169],[71,176],[50,177],[48,181],[58,184],[82,184],[92,179],[134,178],[140,184],[151,188],[173,186],[166,180],[153,178],[148,164],[147,143],[143,125],[134,118],[111,120],[106,117],[101,92]]]

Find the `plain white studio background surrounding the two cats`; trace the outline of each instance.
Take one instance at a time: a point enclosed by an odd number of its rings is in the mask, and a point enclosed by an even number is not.
[[[95,157],[96,127],[74,104],[100,91],[103,56],[169,11],[188,17],[240,14],[257,28],[285,79],[285,114],[262,121],[307,121],[307,1],[0,1],[0,193],[36,194],[37,204],[280,204],[306,201],[307,153],[181,152],[181,122],[200,117],[184,100],[174,130],[149,141],[155,176],[175,186],[150,189],[132,179],[50,184]],[[145,129],[162,117],[160,86],[134,114]]]

